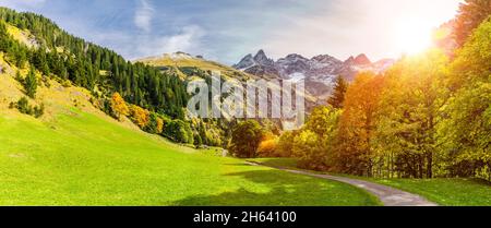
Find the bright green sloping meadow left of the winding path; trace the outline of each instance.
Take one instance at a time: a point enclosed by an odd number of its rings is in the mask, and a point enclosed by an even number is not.
[[[180,147],[76,110],[0,116],[0,205],[380,205],[357,188]]]

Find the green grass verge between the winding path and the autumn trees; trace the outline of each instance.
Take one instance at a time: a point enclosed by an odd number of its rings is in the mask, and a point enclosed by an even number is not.
[[[252,159],[272,167],[298,169],[297,160],[291,158]],[[419,194],[429,201],[443,206],[491,206],[491,183],[464,178],[448,179],[374,179],[338,175],[355,179],[368,180],[407,192]]]

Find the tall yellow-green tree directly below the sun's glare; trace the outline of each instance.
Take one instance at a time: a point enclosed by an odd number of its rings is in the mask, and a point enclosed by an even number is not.
[[[448,96],[448,59],[439,50],[406,57],[385,73],[373,156],[374,176],[432,178],[436,125]]]

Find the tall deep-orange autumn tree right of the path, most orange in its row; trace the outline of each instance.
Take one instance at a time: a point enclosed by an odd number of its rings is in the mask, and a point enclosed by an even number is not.
[[[370,175],[373,168],[372,140],[376,129],[379,101],[384,77],[360,73],[349,86],[340,117],[335,170]]]

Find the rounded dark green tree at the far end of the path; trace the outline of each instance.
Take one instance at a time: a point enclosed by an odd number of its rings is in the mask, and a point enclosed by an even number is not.
[[[255,120],[240,122],[232,129],[230,152],[242,158],[256,157],[258,147],[264,136],[264,131]]]

